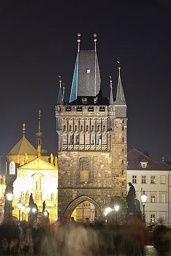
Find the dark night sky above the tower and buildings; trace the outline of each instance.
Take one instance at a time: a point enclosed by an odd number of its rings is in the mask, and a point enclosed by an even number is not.
[[[77,53],[97,54],[103,96],[118,80],[128,106],[128,151],[147,150],[154,160],[171,160],[170,1],[2,1],[0,4],[0,154],[22,137],[35,146],[38,110],[43,146],[57,154],[55,105],[59,79],[67,100]],[[68,4],[69,3],[69,4]]]

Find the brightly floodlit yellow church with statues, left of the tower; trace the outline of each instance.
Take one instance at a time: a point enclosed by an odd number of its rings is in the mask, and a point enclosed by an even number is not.
[[[6,185],[10,183],[13,185],[13,219],[28,221],[29,211],[32,211],[29,208],[30,196],[33,197],[37,206],[38,221],[45,217],[43,216],[45,212],[48,213],[50,223],[55,222],[57,218],[58,159],[52,154],[46,156],[46,150],[43,149],[40,113],[39,111],[38,132],[36,133],[37,149],[25,137],[26,125],[23,124],[22,138],[6,156],[5,176],[0,180],[0,222],[4,221],[4,195]]]

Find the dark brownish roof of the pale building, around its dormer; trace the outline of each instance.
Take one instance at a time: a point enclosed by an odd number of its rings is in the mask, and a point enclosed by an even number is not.
[[[146,160],[147,166],[146,168],[142,168],[141,162]],[[128,170],[171,170],[171,167],[165,162],[157,162],[151,159],[150,157],[145,156],[145,154],[139,152],[136,149],[132,149],[128,152],[127,155],[128,161]]]

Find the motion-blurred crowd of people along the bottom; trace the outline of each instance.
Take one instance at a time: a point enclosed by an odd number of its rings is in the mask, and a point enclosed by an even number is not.
[[[55,223],[12,221],[0,226],[0,255],[13,256],[143,256],[148,232],[140,219],[115,225],[72,217]],[[163,250],[163,249],[162,249]]]

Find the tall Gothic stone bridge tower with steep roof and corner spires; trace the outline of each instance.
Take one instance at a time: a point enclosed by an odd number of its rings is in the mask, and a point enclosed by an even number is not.
[[[80,34],[78,34],[80,37]],[[103,217],[113,196],[126,196],[127,105],[120,78],[104,98],[95,50],[78,51],[69,103],[61,88],[56,105],[58,133],[58,216],[69,219],[88,200]],[[119,63],[119,62],[118,62]],[[59,76],[60,77],[60,76]]]

